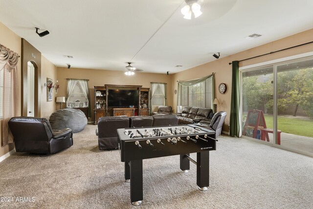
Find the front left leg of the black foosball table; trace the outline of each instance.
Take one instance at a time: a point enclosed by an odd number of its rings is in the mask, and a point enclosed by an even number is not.
[[[143,199],[142,160],[130,162],[131,174],[131,202],[134,206],[141,204]]]

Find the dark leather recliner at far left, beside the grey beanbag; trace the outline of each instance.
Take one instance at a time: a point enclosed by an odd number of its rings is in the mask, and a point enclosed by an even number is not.
[[[16,152],[51,154],[73,145],[72,130],[52,130],[46,118],[12,117],[8,125]]]

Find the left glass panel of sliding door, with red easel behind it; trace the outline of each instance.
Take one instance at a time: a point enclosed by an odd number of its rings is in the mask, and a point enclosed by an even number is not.
[[[242,134],[272,143],[273,67],[248,70],[241,75]]]

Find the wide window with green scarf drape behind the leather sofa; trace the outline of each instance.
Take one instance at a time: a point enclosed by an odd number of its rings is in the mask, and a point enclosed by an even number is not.
[[[212,108],[212,78],[191,86],[179,85],[179,106]]]

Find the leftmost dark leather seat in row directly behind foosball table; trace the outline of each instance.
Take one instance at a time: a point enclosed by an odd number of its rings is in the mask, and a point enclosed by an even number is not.
[[[128,116],[100,117],[96,135],[100,150],[117,149],[117,129],[128,128]]]

